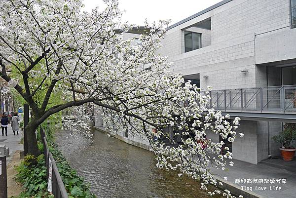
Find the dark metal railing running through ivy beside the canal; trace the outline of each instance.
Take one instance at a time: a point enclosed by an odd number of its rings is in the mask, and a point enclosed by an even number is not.
[[[49,159],[52,164],[52,194],[54,198],[68,198],[67,191],[65,189],[64,183],[62,181],[61,175],[59,173],[58,167],[56,165],[56,162],[54,158],[52,157],[52,154],[49,152],[47,141],[46,141],[46,133],[43,128],[40,129],[40,137],[43,142],[43,154],[45,157],[45,164],[47,169],[47,181],[49,177]]]

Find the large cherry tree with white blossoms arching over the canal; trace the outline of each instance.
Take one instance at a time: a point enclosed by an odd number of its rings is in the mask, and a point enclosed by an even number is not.
[[[239,118],[208,108],[210,88],[183,86],[167,57],[155,53],[166,21],[147,24],[149,32],[132,45],[115,31],[132,27],[120,23],[118,1],[104,2],[104,11],[88,13],[81,11],[82,0],[0,0],[0,75],[32,109],[26,127],[29,153],[40,153],[35,131],[44,120],[90,103],[103,109],[109,130],[145,135],[158,167],[198,179],[205,190],[217,185],[209,166],[225,170],[232,154],[225,147],[221,155],[224,142],[207,139],[206,133],[233,142]],[[50,106],[61,91],[61,102]],[[173,136],[167,129],[175,131]],[[210,192],[215,193],[221,192]]]

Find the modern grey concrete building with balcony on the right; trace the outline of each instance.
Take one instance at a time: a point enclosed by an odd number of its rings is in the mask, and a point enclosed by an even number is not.
[[[242,119],[233,158],[279,155],[272,136],[296,121],[296,0],[223,0],[170,26],[162,43],[175,73],[211,85],[211,105]]]

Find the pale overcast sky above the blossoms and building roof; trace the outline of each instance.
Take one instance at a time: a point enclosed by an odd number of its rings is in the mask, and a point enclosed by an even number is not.
[[[121,10],[126,10],[123,20],[136,26],[160,19],[171,19],[171,25],[187,18],[221,0],[119,0]],[[102,0],[84,0],[84,10],[103,5]]]

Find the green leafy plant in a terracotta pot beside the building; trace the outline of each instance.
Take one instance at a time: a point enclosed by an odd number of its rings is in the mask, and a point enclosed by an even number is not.
[[[281,156],[285,161],[291,161],[296,152],[295,140],[296,140],[296,124],[286,123],[282,133],[272,137],[275,142],[282,144]]]

